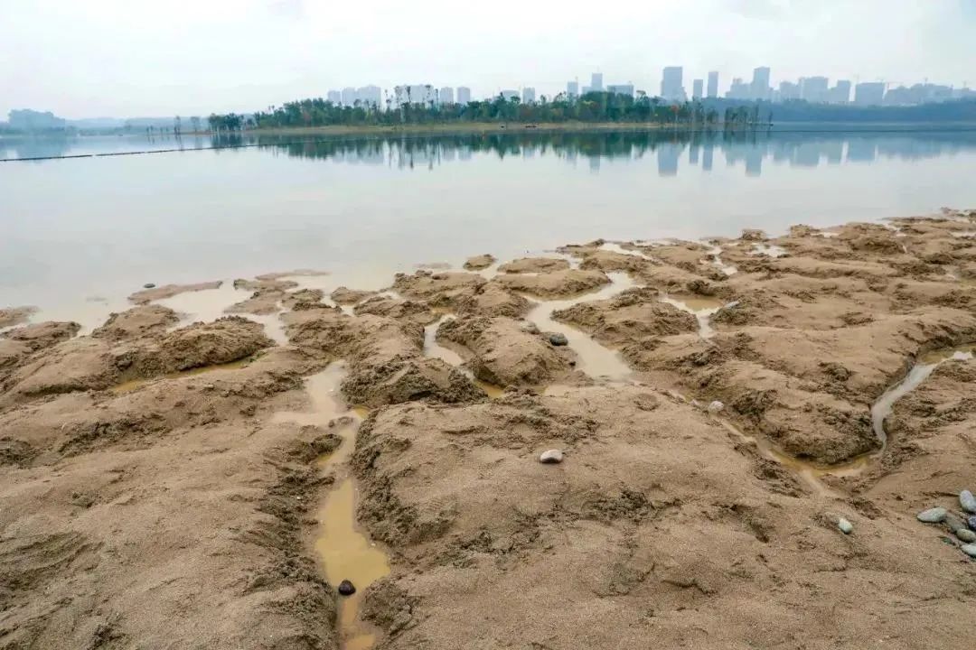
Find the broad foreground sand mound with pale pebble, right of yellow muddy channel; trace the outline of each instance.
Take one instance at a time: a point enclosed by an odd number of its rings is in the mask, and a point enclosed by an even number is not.
[[[566,460],[540,464],[549,447]],[[724,430],[647,389],[390,408],[366,423],[354,462],[362,520],[402,557],[367,605],[390,648],[484,634],[499,646],[642,647],[653,634],[662,647],[854,648],[933,615],[942,642],[967,630],[955,549],[904,520],[779,493]],[[930,608],[903,607],[933,589],[945,597]]]

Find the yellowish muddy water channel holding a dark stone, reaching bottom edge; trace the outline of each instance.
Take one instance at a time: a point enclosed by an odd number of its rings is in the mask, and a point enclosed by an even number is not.
[[[326,427],[337,420],[333,428],[343,443],[333,453],[319,459],[319,467],[332,470],[336,478],[318,513],[320,534],[315,551],[321,560],[325,578],[333,588],[343,580],[350,581],[356,593],[339,597],[337,632],[343,650],[365,650],[376,642],[376,633],[359,619],[359,609],[366,588],[389,573],[386,553],[370,542],[356,525],[355,481],[350,476],[347,461],[352,453],[360,416],[349,410],[340,395],[340,383],[345,375],[344,363],[332,363],[318,374],[305,379],[305,390],[311,409],[304,412],[275,414],[272,422],[297,422],[302,425]],[[341,421],[348,417],[349,421]]]

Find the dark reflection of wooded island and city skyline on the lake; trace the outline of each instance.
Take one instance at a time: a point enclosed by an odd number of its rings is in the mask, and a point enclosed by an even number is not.
[[[247,143],[241,137],[239,143]],[[236,140],[235,140],[236,141]],[[918,134],[809,134],[763,132],[731,133],[565,133],[565,134],[468,134],[435,137],[386,137],[355,140],[317,139],[283,141],[259,136],[253,144],[285,152],[289,156],[333,160],[349,164],[386,165],[401,170],[423,170],[456,162],[472,155],[529,159],[553,157],[570,165],[585,159],[591,172],[605,162],[639,160],[654,156],[658,175],[681,171],[712,172],[715,150],[728,167],[741,167],[748,176],[759,176],[764,164],[794,168],[820,165],[871,163],[877,158],[921,160],[976,151],[976,132],[927,132]]]

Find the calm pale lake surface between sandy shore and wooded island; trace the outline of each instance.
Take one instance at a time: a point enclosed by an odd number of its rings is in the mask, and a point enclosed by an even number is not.
[[[249,146],[211,149],[226,144]],[[71,318],[143,283],[333,272],[976,208],[976,132],[2,139],[0,306]]]

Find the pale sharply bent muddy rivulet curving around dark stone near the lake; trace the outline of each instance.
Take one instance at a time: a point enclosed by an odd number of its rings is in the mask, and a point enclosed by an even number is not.
[[[606,348],[588,334],[570,325],[552,320],[552,313],[568,309],[581,302],[606,300],[636,285],[626,273],[608,273],[610,284],[583,296],[565,300],[546,300],[537,302],[526,315],[525,320],[539,327],[540,331],[559,332],[566,336],[569,347],[576,353],[577,368],[595,378],[612,381],[629,379],[633,371],[620,353]]]

